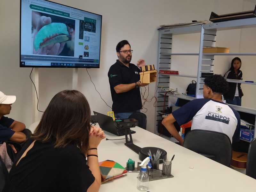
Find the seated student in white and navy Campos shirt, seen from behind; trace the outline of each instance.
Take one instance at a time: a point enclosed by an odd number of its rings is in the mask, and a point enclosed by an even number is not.
[[[192,120],[191,130],[202,129],[222,132],[231,143],[240,138],[240,116],[236,110],[222,102],[222,94],[228,90],[228,82],[221,75],[204,79],[204,99],[195,99],[165,117],[162,124],[183,145],[183,139],[173,123],[179,125]]]

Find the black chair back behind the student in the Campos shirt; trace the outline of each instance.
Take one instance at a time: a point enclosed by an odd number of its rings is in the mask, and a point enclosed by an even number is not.
[[[195,129],[186,135],[183,147],[230,166],[232,145],[229,137],[220,132]]]

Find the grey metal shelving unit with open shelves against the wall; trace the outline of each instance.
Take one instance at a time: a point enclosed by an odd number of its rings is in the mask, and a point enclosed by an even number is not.
[[[252,28],[256,27],[256,18],[249,18],[249,19],[241,19],[241,20],[231,20],[231,21],[224,21],[218,23],[210,23],[204,25],[195,25],[195,26],[186,26],[186,27],[177,27],[177,28],[170,28],[170,29],[162,29],[159,30],[159,38],[158,38],[158,64],[157,70],[159,69],[172,69],[171,68],[171,57],[172,55],[195,55],[198,56],[198,71],[197,76],[192,75],[168,75],[168,74],[159,74],[157,79],[157,86],[163,86],[165,89],[170,87],[170,81],[172,76],[178,77],[190,77],[197,79],[196,85],[196,98],[202,96],[203,94],[203,85],[204,85],[204,78],[201,77],[201,73],[212,73],[213,70],[213,62],[215,55],[256,55],[256,53],[203,53],[203,47],[214,47],[216,44],[216,32],[219,30],[230,30],[230,29],[241,29],[241,28]],[[200,46],[198,53],[172,53],[172,38],[173,35],[180,35],[180,34],[191,34],[191,33],[200,33]],[[227,79],[228,82],[232,83],[242,83],[242,84],[252,84],[256,85],[256,82],[250,83],[245,82],[245,80],[233,80]],[[163,90],[158,89],[157,91],[157,99],[159,101],[156,110],[155,110],[155,133],[157,132],[157,125],[158,120],[161,119],[161,111],[163,111],[164,107],[168,106],[168,102],[163,106],[164,101],[164,93]],[[195,99],[193,97],[187,95],[173,95],[167,94],[168,97],[177,97],[182,99],[192,100]],[[186,96],[186,98],[184,98]],[[254,114],[256,115],[256,109],[252,108],[245,108],[241,106],[230,105],[235,110]],[[255,122],[256,126],[256,122]],[[256,129],[255,129],[256,130]],[[254,137],[256,137],[256,132],[254,131]]]

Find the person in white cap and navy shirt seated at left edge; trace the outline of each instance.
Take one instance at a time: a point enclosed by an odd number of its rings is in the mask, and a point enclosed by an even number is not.
[[[10,114],[12,103],[16,101],[16,96],[5,95],[0,91],[0,144],[5,141],[24,142],[26,135],[22,131],[26,128],[24,123],[15,121],[5,115]],[[16,149],[12,146],[14,153]]]

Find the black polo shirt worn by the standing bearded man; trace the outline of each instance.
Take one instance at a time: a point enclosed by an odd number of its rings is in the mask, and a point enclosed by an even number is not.
[[[119,84],[131,84],[140,80],[140,69],[132,63],[129,68],[119,60],[109,68],[108,79],[113,100],[112,110],[115,113],[125,113],[140,110],[142,108],[140,88],[134,88],[128,92],[116,93],[114,87]]]

